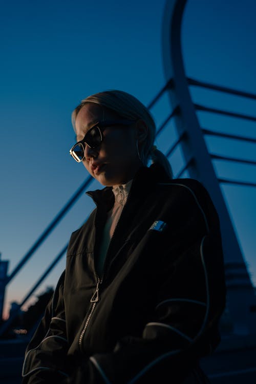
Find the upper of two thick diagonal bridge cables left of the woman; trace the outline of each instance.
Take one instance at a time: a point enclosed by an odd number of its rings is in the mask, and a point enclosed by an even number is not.
[[[74,205],[79,196],[83,193],[84,189],[92,182],[93,177],[89,176],[86,181],[77,189],[75,194],[71,197],[71,199],[67,202],[67,204],[60,210],[58,215],[53,219],[53,221],[49,224],[49,226],[45,229],[45,231],[41,234],[41,236],[36,240],[36,242],[32,245],[29,251],[25,254],[25,256],[20,260],[18,265],[14,268],[12,273],[6,279],[6,285],[14,278],[14,276],[18,273],[18,271],[24,266],[24,264],[31,258],[36,249],[41,245],[41,243],[49,236],[50,232],[54,229],[54,227],[58,224],[58,222],[66,215],[67,211]]]

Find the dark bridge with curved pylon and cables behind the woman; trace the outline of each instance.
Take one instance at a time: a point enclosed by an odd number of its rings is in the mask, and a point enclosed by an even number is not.
[[[219,84],[210,84],[199,79],[188,78],[185,74],[181,50],[181,22],[186,6],[186,0],[166,0],[162,25],[163,64],[166,76],[164,87],[153,98],[148,109],[154,110],[163,97],[168,97],[169,112],[158,126],[157,138],[168,137],[166,156],[171,159],[177,151],[182,154],[182,165],[175,178],[185,175],[199,180],[208,190],[217,208],[222,232],[224,264],[227,285],[227,305],[221,319],[222,342],[217,350],[209,357],[202,359],[202,368],[208,375],[212,384],[238,384],[245,381],[247,384],[256,383],[256,296],[246,263],[240,248],[236,232],[223,196],[223,185],[240,185],[242,187],[256,188],[255,180],[248,182],[231,180],[218,177],[216,162],[225,161],[248,166],[255,166],[255,160],[234,158],[211,153],[207,147],[207,137],[219,137],[225,140],[256,144],[255,137],[237,135],[215,131],[211,127],[202,127],[198,117],[200,112],[217,114],[256,122],[256,116],[233,113],[223,109],[209,108],[195,103],[191,97],[192,88],[215,90],[226,95],[237,95],[244,99],[256,99],[255,94],[223,87]],[[175,133],[167,132],[170,127],[175,127]],[[173,139],[170,139],[172,137]],[[160,150],[162,148],[160,147]],[[20,260],[18,265],[6,275],[7,286],[16,274],[26,265],[42,242],[46,241],[56,225],[72,209],[78,198],[93,181],[91,176],[80,185],[67,204],[60,210],[41,236],[35,241],[29,251]],[[66,254],[67,244],[53,259],[52,263],[31,287],[24,299],[17,305],[12,316],[0,327],[0,337],[11,326],[13,318],[22,306],[29,300],[39,285],[46,279],[49,272],[57,265]],[[38,320],[38,319],[37,319]],[[16,384],[20,382],[20,370],[23,353],[30,335],[18,340],[0,340],[0,377],[3,382]],[[13,356],[13,345],[16,354]],[[6,381],[5,381],[6,380]],[[1,381],[2,382],[2,381]]]

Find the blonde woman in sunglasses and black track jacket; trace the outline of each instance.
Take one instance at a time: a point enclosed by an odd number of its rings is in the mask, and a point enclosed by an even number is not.
[[[121,91],[82,100],[71,155],[103,186],[72,233],[26,353],[23,383],[205,382],[225,306],[219,221],[204,187],[172,180],[145,106]],[[153,164],[147,167],[148,159]]]

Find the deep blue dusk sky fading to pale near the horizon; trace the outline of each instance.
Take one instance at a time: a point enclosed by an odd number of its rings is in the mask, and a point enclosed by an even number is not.
[[[147,105],[164,86],[164,4],[14,0],[2,5],[0,251],[10,261],[9,272],[87,177],[69,155],[75,106],[106,89],[130,92]],[[253,0],[188,0],[182,24],[187,76],[255,92],[255,12]],[[255,101],[191,92],[198,103],[255,115]],[[169,108],[163,97],[153,109],[158,125]],[[255,123],[205,113],[199,119],[208,129],[256,137]],[[157,145],[164,150],[175,135],[170,124]],[[207,145],[215,153],[255,160],[255,144],[211,138]],[[181,156],[170,161],[178,172]],[[255,166],[219,162],[216,170],[230,179],[256,180]],[[93,183],[89,189],[97,187]],[[256,285],[256,188],[228,185],[222,190]],[[6,310],[25,296],[93,206],[89,197],[79,199],[8,286]],[[55,286],[63,268],[65,258],[37,292]]]

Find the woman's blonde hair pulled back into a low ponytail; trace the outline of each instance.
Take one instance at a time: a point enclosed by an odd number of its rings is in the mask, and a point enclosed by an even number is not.
[[[72,124],[75,129],[75,121],[78,112],[86,103],[94,103],[115,112],[120,117],[127,120],[143,120],[147,126],[147,137],[140,145],[140,158],[145,166],[148,159],[152,163],[160,163],[170,178],[173,177],[172,168],[170,167],[167,157],[153,145],[156,136],[156,124],[148,109],[136,97],[129,93],[109,90],[95,93],[83,99],[72,113]]]

